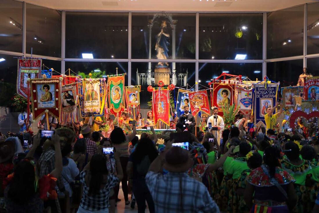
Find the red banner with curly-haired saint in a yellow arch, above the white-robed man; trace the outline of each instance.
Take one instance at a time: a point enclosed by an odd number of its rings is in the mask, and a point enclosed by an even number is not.
[[[218,114],[223,116],[222,107],[233,105],[234,84],[214,83],[213,84],[213,106],[218,107]]]

